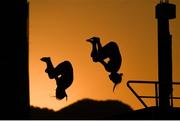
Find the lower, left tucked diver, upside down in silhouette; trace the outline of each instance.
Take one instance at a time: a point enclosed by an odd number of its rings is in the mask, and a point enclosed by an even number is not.
[[[66,97],[67,100],[68,96],[65,90],[73,82],[73,68],[71,63],[64,61],[54,68],[50,57],[42,57],[40,60],[46,62],[47,68],[45,72],[48,73],[49,78],[56,80],[56,98],[63,99]]]

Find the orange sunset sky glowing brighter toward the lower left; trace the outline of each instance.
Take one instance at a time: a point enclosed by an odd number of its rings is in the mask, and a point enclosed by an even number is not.
[[[30,0],[30,104],[59,110],[77,100],[120,100],[133,109],[142,104],[127,88],[128,80],[157,80],[157,21],[155,5],[159,0]],[[180,82],[180,0],[177,18],[170,22],[173,35],[173,80]],[[90,58],[91,45],[85,40],[98,36],[102,45],[115,41],[122,54],[123,80],[113,93],[113,83],[100,63]],[[54,66],[69,60],[74,82],[66,99],[56,100],[55,80],[44,72],[40,61],[50,56]],[[139,94],[153,95],[153,86],[135,85]],[[180,86],[174,88],[180,96]],[[178,95],[179,93],[179,95]],[[145,100],[148,106],[153,100]],[[180,106],[180,100],[175,101]]]

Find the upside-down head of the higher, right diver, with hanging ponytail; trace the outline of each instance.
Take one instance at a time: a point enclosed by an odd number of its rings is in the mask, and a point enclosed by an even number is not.
[[[116,85],[122,81],[122,76],[123,76],[123,73],[119,74],[117,72],[111,72],[111,74],[109,75],[110,80],[112,80],[112,82],[114,83],[113,91],[114,91]]]

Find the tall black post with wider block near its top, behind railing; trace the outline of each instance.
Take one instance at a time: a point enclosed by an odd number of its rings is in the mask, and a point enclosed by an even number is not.
[[[169,32],[169,19],[176,18],[176,6],[168,0],[161,0],[156,6],[158,19],[158,74],[159,107],[161,111],[170,109],[172,95],[172,36]]]

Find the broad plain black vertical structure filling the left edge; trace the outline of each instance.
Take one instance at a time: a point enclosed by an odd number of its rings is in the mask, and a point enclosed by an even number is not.
[[[1,8],[0,119],[27,119],[30,108],[28,3],[3,0]]]

